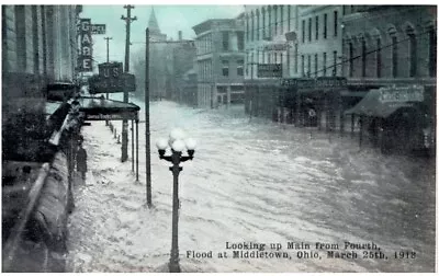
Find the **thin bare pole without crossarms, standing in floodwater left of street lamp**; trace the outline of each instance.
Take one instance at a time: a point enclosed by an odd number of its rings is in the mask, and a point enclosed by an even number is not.
[[[149,28],[146,28],[145,45],[145,153],[146,153],[146,203],[150,208],[151,183],[150,183],[150,133],[149,133]]]

